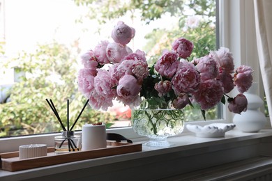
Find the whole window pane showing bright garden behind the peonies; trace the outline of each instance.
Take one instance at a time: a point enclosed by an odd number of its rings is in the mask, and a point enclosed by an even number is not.
[[[179,37],[194,43],[191,60],[216,49],[215,1],[0,2],[0,136],[61,131],[45,99],[54,102],[65,125],[69,99],[73,124],[86,102],[77,90],[79,55],[101,40],[111,41],[119,20],[136,29],[128,46],[146,52],[149,65]],[[129,126],[131,110],[115,103],[108,111],[87,106],[74,129],[98,122]],[[219,109],[206,111],[206,119],[220,118]],[[203,119],[197,107],[186,107],[185,113],[186,120]]]

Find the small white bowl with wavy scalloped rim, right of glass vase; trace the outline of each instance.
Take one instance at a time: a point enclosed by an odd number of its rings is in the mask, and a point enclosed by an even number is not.
[[[218,138],[224,137],[225,132],[234,129],[235,125],[226,123],[213,123],[210,125],[205,125],[204,127],[199,125],[187,125],[186,127],[190,132],[194,132],[197,137]]]

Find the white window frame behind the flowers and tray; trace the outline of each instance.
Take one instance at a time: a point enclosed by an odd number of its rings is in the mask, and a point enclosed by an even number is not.
[[[216,0],[218,4],[219,12],[219,46],[228,47],[234,55],[234,64],[236,66],[243,64],[250,65],[255,70],[254,79],[259,82],[261,77],[259,74],[259,63],[257,58],[257,48],[255,49],[256,40],[254,37],[255,28],[252,28],[254,21],[250,18],[254,18],[253,1],[236,1],[236,0]],[[250,8],[250,10],[247,10]],[[252,23],[253,22],[253,23]],[[250,31],[248,31],[250,30]],[[244,33],[246,32],[246,33]],[[246,34],[246,35],[245,35]],[[250,58],[249,58],[250,57]],[[241,61],[242,60],[242,61]],[[257,63],[256,63],[257,62]],[[262,90],[262,83],[259,84],[259,90]],[[258,94],[260,91],[258,90]],[[232,93],[230,96],[235,96],[236,93]],[[209,120],[209,121],[194,121],[195,125],[208,125],[211,123],[232,123],[234,114],[227,111],[225,105],[222,106],[222,119]],[[188,124],[188,123],[186,123]],[[185,124],[185,127],[186,127]],[[107,132],[115,132],[126,136],[128,139],[141,139],[142,137],[135,134],[131,127],[112,128],[107,129]],[[183,132],[188,132],[185,128]],[[10,138],[0,139],[0,153],[11,152],[18,150],[19,145],[29,143],[46,143],[48,146],[53,146],[54,136],[60,133],[54,134],[38,134],[29,136],[15,136]],[[77,132],[76,134],[81,134]]]

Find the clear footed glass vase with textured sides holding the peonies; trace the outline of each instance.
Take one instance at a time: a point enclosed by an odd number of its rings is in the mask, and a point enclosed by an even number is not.
[[[167,137],[183,132],[183,111],[180,109],[134,109],[132,126],[134,132],[149,137],[145,145],[169,147]]]

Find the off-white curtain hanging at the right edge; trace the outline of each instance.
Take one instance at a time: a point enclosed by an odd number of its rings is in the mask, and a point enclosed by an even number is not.
[[[272,1],[254,0],[257,49],[272,125]]]

